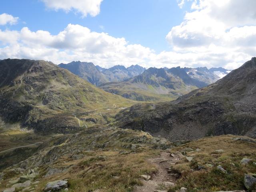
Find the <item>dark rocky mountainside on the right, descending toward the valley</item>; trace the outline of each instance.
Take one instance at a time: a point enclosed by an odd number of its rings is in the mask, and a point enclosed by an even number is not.
[[[116,115],[117,125],[172,141],[235,134],[256,138],[256,58],[216,83],[172,102],[135,104]]]

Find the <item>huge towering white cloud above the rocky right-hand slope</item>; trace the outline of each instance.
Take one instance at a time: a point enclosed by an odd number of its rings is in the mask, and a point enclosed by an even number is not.
[[[256,55],[255,6],[255,0],[194,0],[166,40],[174,52],[192,54],[192,62],[237,68]]]

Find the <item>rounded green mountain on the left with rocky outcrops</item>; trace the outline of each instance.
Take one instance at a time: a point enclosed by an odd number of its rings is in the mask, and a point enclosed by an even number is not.
[[[97,120],[107,123],[106,114],[126,106],[124,98],[104,92],[51,62],[6,59],[0,61],[0,68],[0,117],[37,132],[68,133]],[[84,119],[80,125],[74,112],[87,112],[76,114]]]

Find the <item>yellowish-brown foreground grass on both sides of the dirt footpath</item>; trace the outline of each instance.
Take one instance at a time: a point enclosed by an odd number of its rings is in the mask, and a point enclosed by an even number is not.
[[[182,159],[174,166],[170,166],[170,171],[178,173],[180,177],[176,181],[176,186],[170,188],[169,192],[174,192],[180,187],[188,188],[189,192],[243,190],[244,174],[256,172],[256,166],[252,162],[248,165],[240,163],[242,158],[256,160],[256,143],[233,140],[238,136],[202,138],[171,149],[159,150],[152,148],[154,145],[149,141],[150,136],[144,132],[113,128],[103,129],[98,134],[95,131],[97,132],[97,128],[87,130],[84,134],[76,136],[77,140],[74,139],[74,136],[68,137],[66,141],[62,140],[54,148],[50,148],[50,151],[54,152],[57,157],[51,162],[50,167],[68,168],[68,172],[43,178],[49,165],[40,166],[40,175],[37,177],[40,182],[36,186],[36,191],[43,190],[49,181],[68,179],[71,192],[90,192],[97,189],[100,189],[100,192],[132,192],[134,185],[142,184],[141,174],[152,176],[158,172],[148,159],[157,157],[161,151],[178,151],[193,157],[192,162]],[[144,136],[148,142],[138,142]],[[105,139],[102,139],[103,137]],[[82,141],[79,142],[80,146],[77,145],[78,141]],[[107,143],[108,146],[100,149],[102,144]],[[139,147],[131,149],[128,147],[129,144],[139,145]],[[83,150],[79,150],[81,147]],[[67,153],[66,150],[70,148],[72,150]],[[224,152],[215,152],[220,149]],[[40,160],[51,159],[53,154],[47,152],[48,150],[44,149],[45,156],[39,157]],[[62,150],[64,153],[60,155],[59,151]],[[74,155],[81,156],[81,158],[73,158]],[[234,165],[230,163],[234,163]],[[207,164],[212,164],[212,167],[208,167]],[[198,165],[204,166],[205,169],[198,170]],[[226,169],[228,174],[219,171],[216,168],[218,165]],[[8,170],[5,172],[8,173]],[[0,189],[4,189],[8,181],[14,177],[18,177],[18,175],[6,176]]]

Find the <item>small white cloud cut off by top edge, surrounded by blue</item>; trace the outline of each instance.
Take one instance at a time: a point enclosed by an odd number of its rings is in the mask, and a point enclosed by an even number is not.
[[[66,12],[75,11],[86,17],[87,14],[96,16],[100,13],[100,4],[103,0],[42,0],[48,8],[54,10],[64,10]]]

